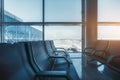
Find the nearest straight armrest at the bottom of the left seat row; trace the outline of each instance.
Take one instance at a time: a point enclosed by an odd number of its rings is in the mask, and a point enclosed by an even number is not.
[[[36,74],[36,76],[41,77],[67,77],[66,71],[40,71]]]

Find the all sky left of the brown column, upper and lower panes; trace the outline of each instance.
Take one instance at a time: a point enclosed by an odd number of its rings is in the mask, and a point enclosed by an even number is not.
[[[42,21],[42,0],[4,0],[4,6],[24,22]],[[81,18],[81,0],[45,0],[45,21],[81,22]],[[81,39],[80,26],[46,26],[45,33],[53,39]]]

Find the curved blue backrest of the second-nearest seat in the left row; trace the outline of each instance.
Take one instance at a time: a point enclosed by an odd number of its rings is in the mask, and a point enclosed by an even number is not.
[[[46,49],[44,46],[44,41],[30,42],[30,46],[32,49],[33,57],[39,69],[41,71],[51,69],[54,61],[49,58],[49,55],[46,52]]]

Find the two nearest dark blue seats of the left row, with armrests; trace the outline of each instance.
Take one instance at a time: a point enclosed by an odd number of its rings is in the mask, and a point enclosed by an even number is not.
[[[0,80],[80,80],[70,56],[50,42],[1,43]]]

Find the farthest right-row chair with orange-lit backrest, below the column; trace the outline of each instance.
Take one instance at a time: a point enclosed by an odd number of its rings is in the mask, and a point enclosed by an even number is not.
[[[108,58],[104,57],[106,55],[106,50],[108,49],[108,46],[108,40],[98,40],[96,41],[95,45],[93,45],[93,47],[86,47],[83,50],[83,54],[87,57],[86,64],[91,63],[93,61],[99,61],[102,64],[106,64]]]

